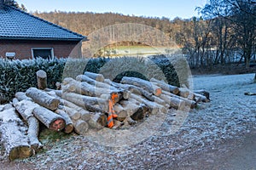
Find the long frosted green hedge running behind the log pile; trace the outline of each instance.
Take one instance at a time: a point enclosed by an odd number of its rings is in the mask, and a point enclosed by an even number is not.
[[[15,93],[25,92],[27,88],[37,87],[36,72],[47,73],[48,87],[55,88],[55,82],[63,77],[76,77],[84,71],[102,73],[104,77],[119,82],[122,77],[138,77],[149,80],[151,77],[164,79],[169,84],[180,86],[180,81],[188,85],[186,70],[184,76],[177,74],[173,59],[164,55],[145,57],[93,58],[93,59],[0,59],[0,100],[9,101]],[[179,72],[186,65],[180,65]],[[174,69],[176,68],[176,69]],[[188,69],[188,68],[187,68]],[[182,80],[183,79],[183,80]]]

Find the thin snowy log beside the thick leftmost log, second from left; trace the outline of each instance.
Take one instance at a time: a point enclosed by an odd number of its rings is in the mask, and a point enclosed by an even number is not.
[[[27,136],[29,139],[29,144],[31,144],[33,150],[38,151],[40,148],[43,147],[43,144],[41,144],[38,140],[39,122],[33,116],[32,111],[39,105],[29,100],[21,100],[14,105],[16,111],[20,113],[20,116],[22,116],[22,118],[28,124]]]

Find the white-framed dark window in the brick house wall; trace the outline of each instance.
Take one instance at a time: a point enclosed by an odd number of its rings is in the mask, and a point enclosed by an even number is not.
[[[53,59],[53,48],[32,48],[32,57],[37,59],[41,57],[43,59]]]

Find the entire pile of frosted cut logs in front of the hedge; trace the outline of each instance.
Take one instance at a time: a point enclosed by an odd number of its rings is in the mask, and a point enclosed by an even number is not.
[[[204,90],[192,92],[154,78],[123,77],[117,83],[85,72],[75,79],[65,78],[58,84],[61,90],[53,90],[46,87],[43,71],[37,76],[38,88],[18,92],[11,105],[0,105],[1,139],[10,160],[32,156],[42,148],[39,122],[56,132],[74,130],[84,135],[103,127],[130,127],[151,114],[195,108],[199,102],[209,101]],[[24,132],[22,123],[26,124]]]

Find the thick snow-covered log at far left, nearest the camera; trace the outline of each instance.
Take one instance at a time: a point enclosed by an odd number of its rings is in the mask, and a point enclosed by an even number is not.
[[[9,160],[32,156],[32,149],[27,136],[21,131],[22,121],[15,113],[15,108],[0,112],[1,140]]]

